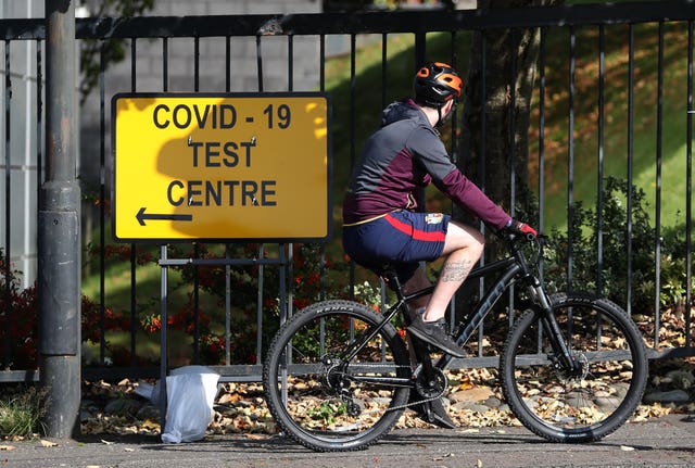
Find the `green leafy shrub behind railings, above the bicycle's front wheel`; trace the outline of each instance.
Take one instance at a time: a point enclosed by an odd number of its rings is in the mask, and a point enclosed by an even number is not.
[[[656,230],[649,224],[645,193],[634,186],[631,230],[628,231],[628,182],[605,179],[601,217],[595,208],[577,202],[568,231],[553,229],[546,250],[545,275],[551,290],[587,291],[605,295],[618,304],[628,300],[628,267],[631,271],[632,308],[641,314],[655,312]],[[684,230],[665,229],[661,242],[662,305],[681,301],[685,294]],[[602,241],[599,253],[599,236]],[[628,264],[628,244],[632,262]],[[571,242],[571,243],[570,243]]]

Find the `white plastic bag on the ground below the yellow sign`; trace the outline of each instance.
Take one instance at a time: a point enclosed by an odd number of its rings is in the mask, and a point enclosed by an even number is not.
[[[166,425],[162,442],[201,440],[213,418],[219,375],[202,366],[187,366],[166,378]]]

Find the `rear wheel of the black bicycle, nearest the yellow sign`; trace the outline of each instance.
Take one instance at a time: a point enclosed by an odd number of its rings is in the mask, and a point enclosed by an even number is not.
[[[359,450],[397,421],[412,372],[391,324],[367,339],[382,320],[362,304],[326,301],[278,331],[264,363],[264,392],[276,422],[293,440],[320,452]]]

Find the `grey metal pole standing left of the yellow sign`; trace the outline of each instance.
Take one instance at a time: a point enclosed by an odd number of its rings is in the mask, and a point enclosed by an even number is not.
[[[76,181],[75,8],[46,0],[46,180],[39,194],[39,371],[48,437],[79,431],[79,185]]]

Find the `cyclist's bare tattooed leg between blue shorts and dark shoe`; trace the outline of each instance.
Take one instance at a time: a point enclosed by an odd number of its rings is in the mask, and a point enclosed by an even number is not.
[[[456,222],[448,224],[443,252],[448,256],[444,261],[434,292],[422,316],[425,321],[433,321],[444,316],[452,298],[482,255],[483,248],[484,238],[480,231]]]

